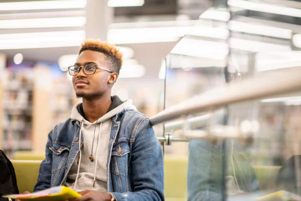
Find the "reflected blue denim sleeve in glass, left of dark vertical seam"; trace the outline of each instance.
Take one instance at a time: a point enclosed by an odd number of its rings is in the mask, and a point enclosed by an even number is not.
[[[219,150],[206,140],[191,140],[188,148],[188,201],[222,200]]]

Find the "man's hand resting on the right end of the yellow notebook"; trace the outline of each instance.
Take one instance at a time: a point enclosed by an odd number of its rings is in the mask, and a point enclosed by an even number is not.
[[[111,201],[112,196],[109,193],[101,193],[97,190],[83,190],[78,192],[82,197],[72,199],[72,201]],[[69,200],[65,200],[69,201]],[[71,201],[71,199],[70,199]]]

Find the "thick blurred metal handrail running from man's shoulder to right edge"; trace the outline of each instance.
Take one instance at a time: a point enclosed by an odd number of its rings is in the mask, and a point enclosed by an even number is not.
[[[232,103],[301,91],[301,67],[264,72],[254,78],[216,87],[154,115],[152,125],[181,116],[213,111]]]

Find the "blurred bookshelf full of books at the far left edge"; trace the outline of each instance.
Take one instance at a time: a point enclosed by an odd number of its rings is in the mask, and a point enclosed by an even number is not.
[[[8,70],[3,77],[2,149],[8,157],[32,148],[33,77]]]

